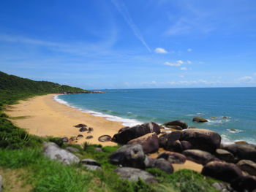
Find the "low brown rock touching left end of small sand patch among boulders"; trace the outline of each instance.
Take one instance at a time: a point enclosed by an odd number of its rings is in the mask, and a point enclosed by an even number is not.
[[[181,153],[176,152],[164,152],[158,155],[157,158],[164,158],[167,160],[170,164],[184,164],[186,161],[186,156],[182,155]]]

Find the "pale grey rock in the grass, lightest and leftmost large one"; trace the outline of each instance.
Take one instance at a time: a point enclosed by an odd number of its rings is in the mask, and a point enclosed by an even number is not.
[[[56,159],[67,165],[76,164],[80,161],[76,155],[61,149],[53,142],[44,142],[42,145],[44,147],[44,155],[50,159]]]

